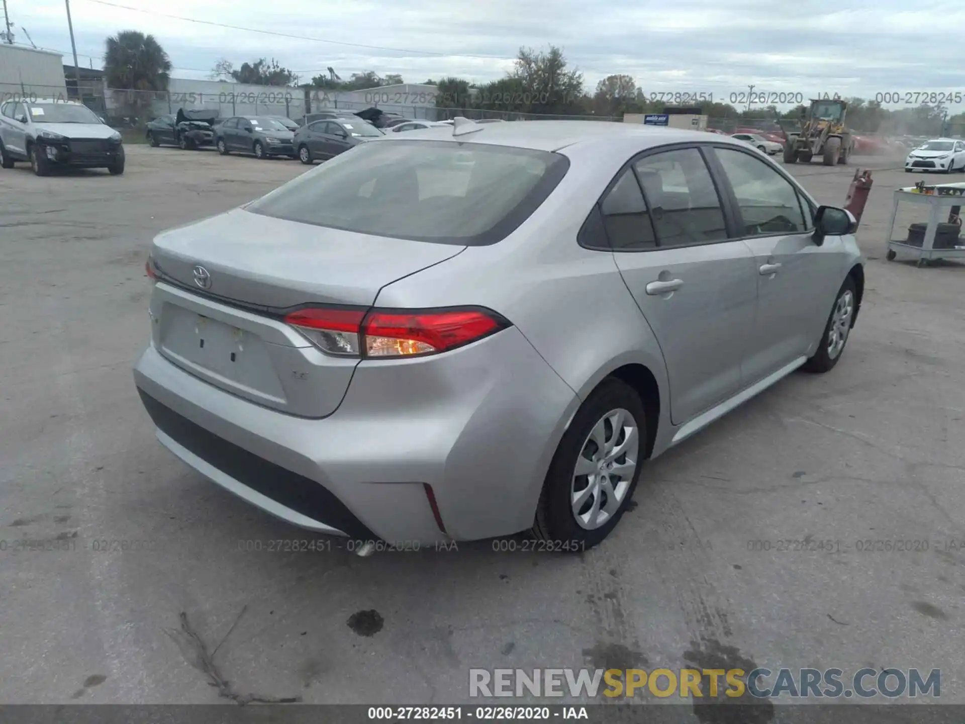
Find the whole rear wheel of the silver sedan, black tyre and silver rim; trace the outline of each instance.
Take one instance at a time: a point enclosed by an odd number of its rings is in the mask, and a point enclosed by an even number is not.
[[[567,552],[602,542],[633,498],[647,450],[646,425],[636,390],[616,378],[601,382],[560,440],[539,494],[533,535],[559,542],[555,549],[568,543]],[[587,472],[577,475],[579,470]],[[585,519],[579,522],[578,515]]]

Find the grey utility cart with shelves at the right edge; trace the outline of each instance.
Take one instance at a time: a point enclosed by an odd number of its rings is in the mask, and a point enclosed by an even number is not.
[[[917,259],[919,266],[935,259],[965,260],[960,215],[963,205],[965,183],[926,185],[919,181],[896,189],[888,226],[888,261],[894,261],[898,254]],[[949,212],[943,219],[945,209]]]

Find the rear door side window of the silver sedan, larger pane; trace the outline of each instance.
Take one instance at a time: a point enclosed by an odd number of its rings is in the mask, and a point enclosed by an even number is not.
[[[660,246],[688,246],[728,237],[724,209],[697,149],[648,155],[633,164],[644,187]]]

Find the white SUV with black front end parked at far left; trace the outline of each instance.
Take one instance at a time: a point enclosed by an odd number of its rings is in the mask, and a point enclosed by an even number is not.
[[[90,108],[69,100],[30,98],[0,105],[0,165],[29,161],[47,176],[57,166],[106,168],[124,173],[121,134]]]

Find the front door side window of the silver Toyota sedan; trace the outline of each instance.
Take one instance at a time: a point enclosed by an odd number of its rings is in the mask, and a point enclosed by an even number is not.
[[[811,224],[802,211],[802,208],[808,208],[807,203],[802,202],[790,181],[750,153],[721,148],[714,149],[714,153],[737,197],[744,224],[743,236],[808,231]]]

